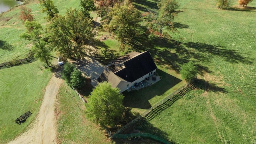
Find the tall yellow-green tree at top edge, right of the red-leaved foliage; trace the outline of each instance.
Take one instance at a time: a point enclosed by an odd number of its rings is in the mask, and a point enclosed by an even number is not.
[[[174,28],[172,20],[177,14],[177,9],[179,8],[179,5],[176,0],[161,0],[161,2],[157,4],[157,6],[159,8],[159,14],[156,22],[158,24],[161,37],[164,26],[166,26],[166,28],[170,30]]]

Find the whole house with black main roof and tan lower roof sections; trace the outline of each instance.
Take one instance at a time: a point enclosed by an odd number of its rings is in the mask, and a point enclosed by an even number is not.
[[[120,93],[145,80],[156,72],[156,64],[148,51],[130,52],[110,62],[100,77],[99,82],[107,81],[113,88],[119,88]]]

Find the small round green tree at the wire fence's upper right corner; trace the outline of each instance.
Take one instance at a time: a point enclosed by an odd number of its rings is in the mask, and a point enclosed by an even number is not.
[[[181,77],[188,82],[193,78],[196,78],[196,75],[198,74],[197,66],[195,66],[194,62],[192,61],[184,63],[181,66],[180,74]]]

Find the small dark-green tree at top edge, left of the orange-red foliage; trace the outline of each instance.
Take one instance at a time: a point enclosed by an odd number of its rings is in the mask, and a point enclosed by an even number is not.
[[[93,0],[80,0],[80,6],[82,6],[82,12],[86,18],[91,18],[89,11],[96,10]]]

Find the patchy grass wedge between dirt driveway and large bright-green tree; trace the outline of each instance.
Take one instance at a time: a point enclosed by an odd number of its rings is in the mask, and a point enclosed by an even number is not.
[[[56,104],[58,142],[61,144],[110,144],[105,130],[89,121],[84,103],[64,82],[59,89]]]

